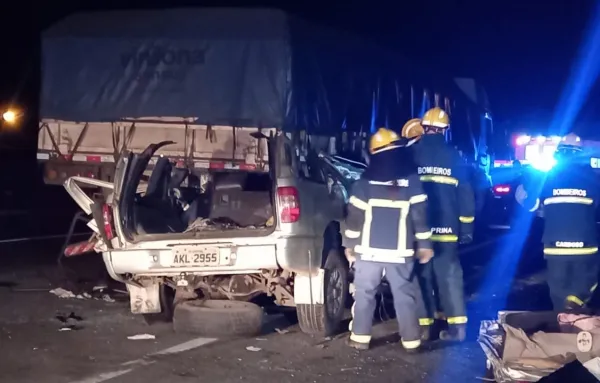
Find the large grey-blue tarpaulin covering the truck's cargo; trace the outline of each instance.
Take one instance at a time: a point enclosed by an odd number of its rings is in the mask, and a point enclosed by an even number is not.
[[[277,10],[76,14],[45,31],[42,49],[43,119],[327,131],[410,117],[396,106],[410,93],[399,93],[398,74],[411,78],[401,60]]]

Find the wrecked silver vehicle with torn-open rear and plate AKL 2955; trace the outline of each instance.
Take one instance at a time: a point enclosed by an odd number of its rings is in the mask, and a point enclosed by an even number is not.
[[[132,312],[150,322],[174,315],[175,328],[189,330],[210,319],[178,316],[197,302],[174,309],[180,298],[248,302],[266,294],[295,307],[306,333],[338,328],[349,299],[339,222],[361,164],[312,151],[301,162],[289,138],[275,131],[257,140],[267,150],[251,170],[190,171],[163,157],[145,182],[149,160],[169,144],[163,142],[125,154],[114,184],[84,177],[66,182],[92,217],[88,246],[127,285]],[[107,188],[108,199],[90,199],[83,185]],[[245,328],[260,328],[260,312],[218,314],[214,320],[237,315]]]

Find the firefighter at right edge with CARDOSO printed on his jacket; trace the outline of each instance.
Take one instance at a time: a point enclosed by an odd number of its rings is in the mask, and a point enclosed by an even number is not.
[[[598,184],[577,135],[563,138],[555,159],[546,177],[536,177],[537,185],[520,185],[515,198],[531,212],[543,207],[542,241],[554,309],[579,309],[590,299],[598,277]]]

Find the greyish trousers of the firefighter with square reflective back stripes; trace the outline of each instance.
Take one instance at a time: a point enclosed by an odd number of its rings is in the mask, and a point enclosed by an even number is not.
[[[405,348],[416,348],[421,344],[419,314],[422,306],[421,293],[414,270],[414,259],[406,258],[406,263],[381,263],[357,260],[355,263],[354,286],[356,293],[352,306],[350,339],[369,343],[373,315],[377,305],[377,288],[384,275],[390,285],[398,330]]]

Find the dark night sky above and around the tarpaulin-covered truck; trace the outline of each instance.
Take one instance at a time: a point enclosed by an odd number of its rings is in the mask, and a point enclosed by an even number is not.
[[[48,5],[38,3],[12,3],[3,9],[3,23],[0,23],[4,36],[0,102],[14,100],[33,109],[34,113],[41,28],[63,15],[82,9],[166,4],[164,1],[105,1],[95,5],[88,3],[84,8],[60,1],[48,2]],[[260,5],[281,7],[282,4],[292,4],[287,8],[293,12],[368,36],[407,58],[425,60],[449,73],[474,77],[485,86],[496,120],[502,121],[524,114],[552,111],[565,87],[594,2],[398,2],[408,3],[403,6],[391,5],[396,3],[392,1],[382,2],[379,6],[377,3],[350,1],[345,6],[309,7],[294,5],[292,1],[279,1]],[[200,2],[170,1],[168,4],[185,6]],[[227,4],[236,3],[211,2],[209,5]],[[249,4],[238,1],[236,5]],[[597,97],[592,94],[587,103],[588,109]],[[585,115],[593,117],[589,112]],[[35,138],[29,137],[26,141],[34,146]]]

